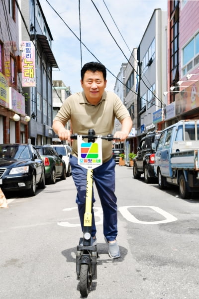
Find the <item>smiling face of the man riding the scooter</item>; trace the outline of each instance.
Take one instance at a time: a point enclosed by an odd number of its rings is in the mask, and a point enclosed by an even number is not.
[[[86,71],[81,85],[88,102],[94,105],[98,104],[106,87],[106,80],[104,81],[102,72]]]

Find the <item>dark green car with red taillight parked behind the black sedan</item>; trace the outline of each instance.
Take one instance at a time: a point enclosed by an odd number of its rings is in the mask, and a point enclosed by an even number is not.
[[[35,146],[44,161],[45,178],[49,184],[55,184],[56,178],[66,179],[66,165],[51,145]]]

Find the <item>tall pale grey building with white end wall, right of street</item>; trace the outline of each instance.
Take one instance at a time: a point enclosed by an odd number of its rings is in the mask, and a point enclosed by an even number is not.
[[[163,92],[167,88],[167,12],[155,9],[137,50],[139,87],[137,97],[137,138],[159,129]]]

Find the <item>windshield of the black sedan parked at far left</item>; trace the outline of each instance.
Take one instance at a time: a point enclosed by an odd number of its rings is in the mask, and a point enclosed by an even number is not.
[[[0,146],[0,158],[29,159],[30,153],[27,146],[3,145]]]

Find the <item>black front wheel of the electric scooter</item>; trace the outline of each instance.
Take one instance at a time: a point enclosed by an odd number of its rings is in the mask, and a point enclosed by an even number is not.
[[[80,293],[83,297],[87,297],[91,286],[91,274],[88,264],[82,264],[80,270]]]

